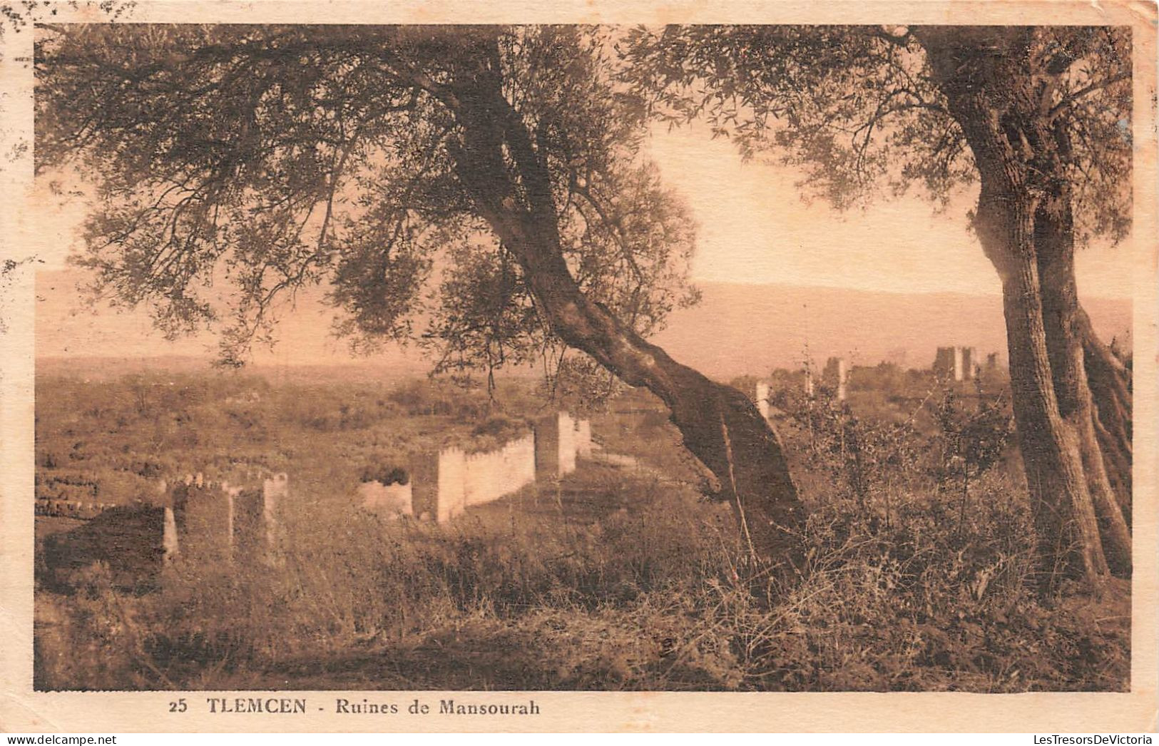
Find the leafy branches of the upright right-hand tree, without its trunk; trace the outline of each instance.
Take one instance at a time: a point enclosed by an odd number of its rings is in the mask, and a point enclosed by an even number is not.
[[[954,36],[964,49],[967,35]],[[1130,29],[993,27],[983,46],[1035,63],[1042,115],[1070,137],[1020,146],[1028,156],[1045,148],[1058,159],[1041,175],[1072,185],[1079,241],[1121,240],[1131,210]],[[637,28],[620,49],[625,79],[657,116],[704,117],[745,155],[775,154],[801,167],[808,193],[839,207],[911,190],[945,204],[955,188],[978,180],[914,29]]]

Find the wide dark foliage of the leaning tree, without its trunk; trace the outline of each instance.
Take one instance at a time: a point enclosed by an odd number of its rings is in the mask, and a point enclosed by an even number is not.
[[[526,363],[557,341],[457,173],[454,102],[481,66],[534,133],[584,294],[643,335],[695,298],[691,221],[640,152],[641,107],[608,79],[605,42],[581,27],[45,27],[37,166],[96,178],[80,263],[99,285],[170,335],[220,324],[227,361],[320,285],[358,348],[421,336],[440,370]]]

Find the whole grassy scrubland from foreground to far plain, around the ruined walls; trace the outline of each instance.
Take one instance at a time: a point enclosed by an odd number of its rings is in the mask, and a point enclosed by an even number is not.
[[[64,476],[129,500],[257,463],[289,471],[293,499],[276,569],[189,554],[151,592],[118,590],[101,564],[38,585],[36,686],[1125,690],[1129,587],[1038,591],[1003,388],[860,370],[841,409],[781,376],[808,564],[764,605],[727,505],[639,392],[592,414],[639,468],[584,463],[435,526],[359,510],[360,474],[493,447],[559,404],[527,383],[504,387],[500,411],[425,381],[45,378],[38,490]],[[38,517],[38,543],[75,525]]]

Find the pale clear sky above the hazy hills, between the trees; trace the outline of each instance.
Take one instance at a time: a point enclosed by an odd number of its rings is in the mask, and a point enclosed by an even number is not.
[[[780,164],[743,163],[727,140],[702,126],[653,132],[651,153],[665,183],[688,200],[699,224],[693,276],[699,280],[823,285],[891,292],[1000,292],[993,268],[967,231],[975,193],[963,192],[935,215],[918,198],[885,199],[838,213],[806,205],[795,173]],[[52,198],[45,193],[44,205]],[[83,206],[49,207],[46,269],[63,265],[79,246]],[[42,234],[43,235],[43,234]],[[1079,253],[1079,290],[1130,297],[1129,244]]]

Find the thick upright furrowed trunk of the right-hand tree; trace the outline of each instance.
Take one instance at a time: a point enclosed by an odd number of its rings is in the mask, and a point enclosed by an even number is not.
[[[1047,586],[1060,577],[1098,585],[1111,568],[1128,571],[1130,536],[1121,510],[1116,517],[1087,386],[1072,226],[1054,217],[1065,178],[1041,118],[1034,31],[914,32],[978,169],[974,226],[1003,283],[1014,418]]]

